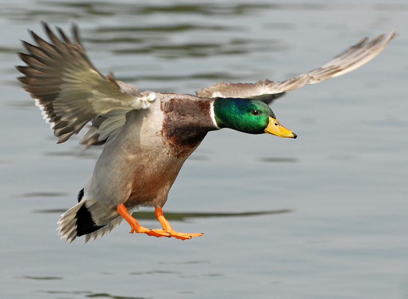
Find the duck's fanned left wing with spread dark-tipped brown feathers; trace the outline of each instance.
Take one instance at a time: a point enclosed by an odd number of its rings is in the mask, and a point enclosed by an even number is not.
[[[96,123],[93,135],[103,142],[120,131],[127,112],[147,108],[154,99],[115,80],[112,73],[106,77],[99,73],[84,52],[77,26],[72,26],[72,42],[61,29],[59,39],[46,23],[43,25],[51,42],[31,31],[37,45],[23,41],[29,53],[19,53],[27,66],[17,67],[24,74],[18,80],[51,123],[58,143],[78,133],[89,121]]]

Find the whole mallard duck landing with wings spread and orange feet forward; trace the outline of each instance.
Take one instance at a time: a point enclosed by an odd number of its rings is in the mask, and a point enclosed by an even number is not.
[[[209,131],[231,128],[249,134],[269,133],[296,138],[282,126],[268,106],[284,92],[343,75],[367,63],[395,36],[363,39],[340,56],[308,73],[274,83],[218,83],[196,95],[139,92],[132,85],[104,76],[88,59],[76,25],[73,41],[58,29],[60,38],[43,23],[50,42],[31,31],[37,45],[23,41],[19,53],[26,66],[18,80],[35,99],[51,124],[58,143],[85,126],[80,143],[105,144],[92,176],[79,192],[78,204],[61,215],[61,238],[95,240],[125,219],[131,233],[190,239],[201,233],[174,231],[162,207],[187,157]],[[87,125],[89,123],[89,125]],[[162,229],[148,229],[132,214],[138,206],[155,208]]]

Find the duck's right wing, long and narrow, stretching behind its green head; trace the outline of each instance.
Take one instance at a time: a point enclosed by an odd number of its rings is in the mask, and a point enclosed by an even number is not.
[[[396,36],[395,32],[396,28],[387,36],[380,35],[371,41],[365,38],[325,65],[283,82],[274,83],[268,79],[265,81],[260,80],[255,84],[226,84],[221,82],[214,86],[203,88],[197,91],[196,94],[200,97],[259,98],[268,101],[275,98],[276,94],[300,88],[305,84],[315,84],[355,70],[376,57]]]

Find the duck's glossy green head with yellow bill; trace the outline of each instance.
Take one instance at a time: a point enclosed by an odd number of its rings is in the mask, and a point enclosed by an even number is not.
[[[297,135],[279,124],[271,108],[254,99],[217,98],[214,118],[219,128],[230,128],[249,134],[269,133],[279,137]]]

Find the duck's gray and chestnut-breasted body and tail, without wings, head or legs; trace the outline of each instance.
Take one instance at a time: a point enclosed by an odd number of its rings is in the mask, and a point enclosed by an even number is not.
[[[188,108],[196,106],[195,102],[210,106],[213,99],[192,95],[155,95],[148,110],[131,111],[120,132],[106,142],[94,172],[85,184],[81,201],[65,212],[59,221],[62,237],[72,241],[77,236],[77,213],[82,205],[92,216],[94,225],[101,227],[86,234],[86,240],[103,236],[120,224],[122,218],[116,209],[119,204],[124,204],[129,212],[140,205],[162,207],[185,160],[197,148],[205,133],[216,129],[210,121],[209,111],[194,108],[191,111]],[[168,131],[163,125],[166,118],[171,118],[181,108],[186,115],[194,112],[194,123],[201,119],[199,123],[202,124],[201,129],[192,130],[197,140],[184,147],[171,143],[171,138],[183,137],[177,131]],[[179,119],[177,125],[192,127],[194,124],[189,122],[191,118]],[[194,136],[186,139],[189,138]]]

